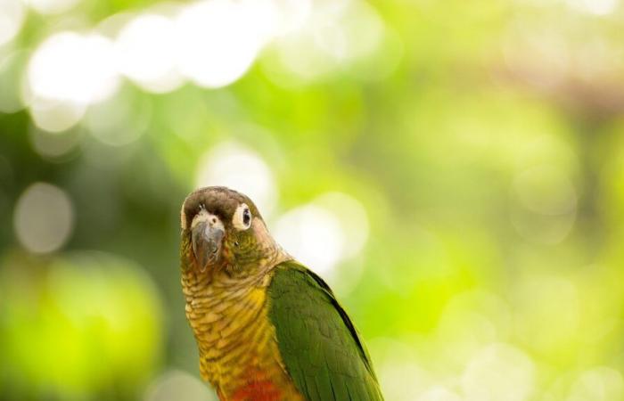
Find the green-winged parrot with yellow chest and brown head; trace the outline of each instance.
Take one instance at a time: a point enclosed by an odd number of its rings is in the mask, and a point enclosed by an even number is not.
[[[349,315],[273,239],[250,198],[200,188],[185,198],[180,225],[185,315],[201,378],[219,400],[383,400]]]

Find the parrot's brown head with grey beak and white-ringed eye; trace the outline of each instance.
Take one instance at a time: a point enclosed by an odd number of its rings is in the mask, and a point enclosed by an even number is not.
[[[180,224],[184,268],[240,272],[283,254],[256,205],[223,186],[201,188],[188,195]]]

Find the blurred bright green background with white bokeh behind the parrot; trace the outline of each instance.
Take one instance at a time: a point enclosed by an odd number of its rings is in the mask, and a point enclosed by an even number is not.
[[[214,400],[179,208],[246,192],[389,401],[624,400],[619,0],[0,0],[0,399]]]

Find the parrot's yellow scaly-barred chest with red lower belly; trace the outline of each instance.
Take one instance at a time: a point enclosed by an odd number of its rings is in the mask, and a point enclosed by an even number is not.
[[[242,279],[191,270],[182,275],[186,317],[200,350],[201,376],[221,399],[253,400],[237,394],[247,394],[246,388],[259,384],[267,387],[259,399],[300,399],[285,373],[275,329],[268,320],[269,282],[269,274]],[[266,397],[271,392],[275,397]]]

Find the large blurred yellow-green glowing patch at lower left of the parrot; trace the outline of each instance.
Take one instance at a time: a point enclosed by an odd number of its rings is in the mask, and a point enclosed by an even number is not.
[[[142,266],[98,251],[14,254],[2,262],[0,294],[12,322],[0,328],[0,354],[12,363],[3,374],[4,396],[29,399],[42,394],[32,389],[45,389],[53,399],[89,399],[103,386],[135,394],[136,384],[152,377],[162,307]]]

